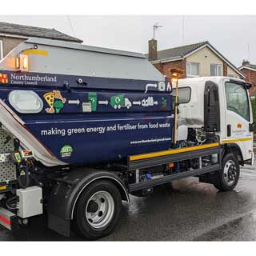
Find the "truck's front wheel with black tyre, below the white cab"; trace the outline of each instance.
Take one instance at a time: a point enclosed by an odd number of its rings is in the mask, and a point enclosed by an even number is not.
[[[238,184],[240,166],[234,154],[226,154],[222,160],[222,170],[218,171],[218,179],[214,186],[221,191],[233,190]]]

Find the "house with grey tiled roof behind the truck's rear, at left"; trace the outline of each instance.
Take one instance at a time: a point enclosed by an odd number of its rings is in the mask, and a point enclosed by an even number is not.
[[[13,50],[27,38],[48,38],[82,43],[82,40],[58,30],[0,22],[0,59],[4,58],[10,50]]]

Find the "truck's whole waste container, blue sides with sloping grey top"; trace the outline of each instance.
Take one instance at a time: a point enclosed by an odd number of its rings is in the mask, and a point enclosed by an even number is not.
[[[170,148],[171,86],[142,54],[29,39],[0,69],[0,122],[45,166]]]

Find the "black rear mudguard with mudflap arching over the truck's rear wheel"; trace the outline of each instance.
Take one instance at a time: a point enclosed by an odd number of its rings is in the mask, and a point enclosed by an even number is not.
[[[48,228],[58,232],[58,234],[70,236],[74,206],[79,195],[91,182],[102,179],[114,182],[121,192],[122,200],[129,202],[128,190],[122,179],[118,178],[116,174],[106,170],[78,168],[70,171],[54,186],[47,209]]]

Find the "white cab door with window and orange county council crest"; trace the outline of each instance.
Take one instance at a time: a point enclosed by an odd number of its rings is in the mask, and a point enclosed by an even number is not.
[[[226,129],[223,143],[236,143],[244,160],[253,158],[253,133],[250,132],[252,110],[246,84],[234,80],[224,82]],[[223,113],[224,114],[224,113]],[[223,138],[223,137],[222,137]]]

